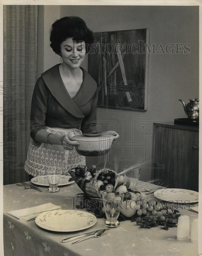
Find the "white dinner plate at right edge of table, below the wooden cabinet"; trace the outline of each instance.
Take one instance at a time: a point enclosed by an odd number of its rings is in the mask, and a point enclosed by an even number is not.
[[[163,188],[154,192],[154,196],[163,201],[177,203],[198,202],[198,192],[181,188]]]

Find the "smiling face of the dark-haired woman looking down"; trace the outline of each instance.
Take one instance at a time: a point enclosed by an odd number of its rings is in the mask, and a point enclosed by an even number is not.
[[[67,38],[60,45],[63,62],[69,68],[79,68],[85,57],[85,42],[73,41]]]

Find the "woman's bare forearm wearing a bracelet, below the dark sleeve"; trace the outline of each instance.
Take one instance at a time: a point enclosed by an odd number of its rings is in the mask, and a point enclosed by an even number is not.
[[[44,129],[41,129],[35,134],[34,138],[38,142],[47,143],[48,134],[49,134],[49,132],[47,132]],[[64,137],[63,135],[50,134],[49,142],[50,142],[50,144],[53,144],[53,145],[62,145],[62,138],[63,137]]]

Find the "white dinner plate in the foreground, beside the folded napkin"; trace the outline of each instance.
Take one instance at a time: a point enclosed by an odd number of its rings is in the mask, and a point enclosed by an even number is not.
[[[35,223],[39,227],[57,232],[83,230],[95,225],[96,221],[97,219],[93,214],[78,210],[47,211],[35,219]]]

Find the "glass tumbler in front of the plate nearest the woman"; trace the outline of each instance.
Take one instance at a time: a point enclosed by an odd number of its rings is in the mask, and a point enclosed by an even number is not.
[[[46,177],[49,184],[48,192],[51,192],[51,193],[58,192],[60,190],[58,188],[58,184],[60,182],[62,166],[46,165],[45,170],[46,170]]]

